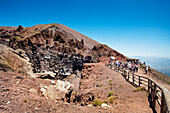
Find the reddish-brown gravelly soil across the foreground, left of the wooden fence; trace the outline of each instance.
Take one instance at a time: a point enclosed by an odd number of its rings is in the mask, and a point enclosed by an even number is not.
[[[107,99],[108,93],[114,91],[117,98],[110,108],[80,106],[63,101],[54,102],[47,100],[40,92],[33,93],[30,89],[37,89],[42,85],[49,85],[50,80],[31,78],[16,73],[0,71],[0,112],[69,112],[69,113],[151,113],[145,91],[133,92],[134,87],[127,83],[121,74],[110,70],[104,64],[85,64],[81,90],[94,92],[95,98]],[[112,84],[109,85],[109,80]],[[96,87],[96,85],[101,85]],[[107,88],[108,87],[108,88]]]

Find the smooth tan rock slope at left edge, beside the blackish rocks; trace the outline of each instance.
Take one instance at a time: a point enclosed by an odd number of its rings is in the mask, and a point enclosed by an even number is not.
[[[32,72],[32,64],[24,53],[13,50],[5,45],[0,44],[0,66],[5,71],[14,71],[22,74],[35,75]],[[23,56],[22,56],[23,55]],[[22,56],[22,57],[20,57]]]

